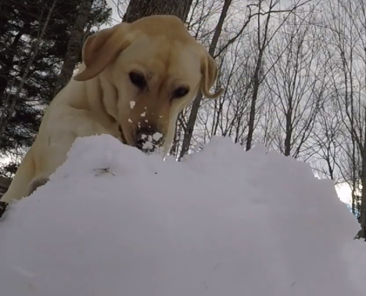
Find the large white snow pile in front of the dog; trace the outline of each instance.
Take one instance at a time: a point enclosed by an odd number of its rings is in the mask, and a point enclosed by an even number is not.
[[[358,230],[331,181],[262,146],[178,163],[79,138],[1,221],[0,295],[361,296]]]

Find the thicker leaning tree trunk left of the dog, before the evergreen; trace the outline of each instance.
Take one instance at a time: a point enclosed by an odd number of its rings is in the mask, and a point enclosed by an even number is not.
[[[74,27],[72,28],[71,36],[67,44],[65,60],[62,64],[61,73],[57,79],[54,95],[56,95],[70,81],[72,74],[74,73],[79,52],[82,49],[84,27],[89,18],[92,4],[93,0],[83,0],[80,4],[80,13],[75,20]]]

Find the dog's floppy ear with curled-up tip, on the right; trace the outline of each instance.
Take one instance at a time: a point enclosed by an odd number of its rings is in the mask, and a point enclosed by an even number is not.
[[[216,81],[217,75],[219,74],[219,68],[212,56],[206,51],[203,51],[201,56],[201,91],[203,95],[208,99],[216,99],[221,96],[223,89],[220,88],[216,93],[209,93],[210,88]]]

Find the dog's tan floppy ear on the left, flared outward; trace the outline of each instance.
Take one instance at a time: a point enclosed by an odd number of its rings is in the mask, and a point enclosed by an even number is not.
[[[86,81],[100,74],[131,41],[126,38],[130,23],[120,23],[89,36],[82,49],[85,70],[76,74],[76,81]]]

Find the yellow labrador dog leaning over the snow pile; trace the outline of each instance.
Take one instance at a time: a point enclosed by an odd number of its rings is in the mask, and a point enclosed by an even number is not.
[[[222,93],[209,92],[218,73],[215,61],[175,16],[154,15],[101,30],[87,38],[82,57],[78,74],[47,108],[1,198],[3,208],[45,184],[76,137],[111,134],[142,151],[152,148],[146,145],[152,138],[166,153],[179,112],[199,88],[207,98]]]

